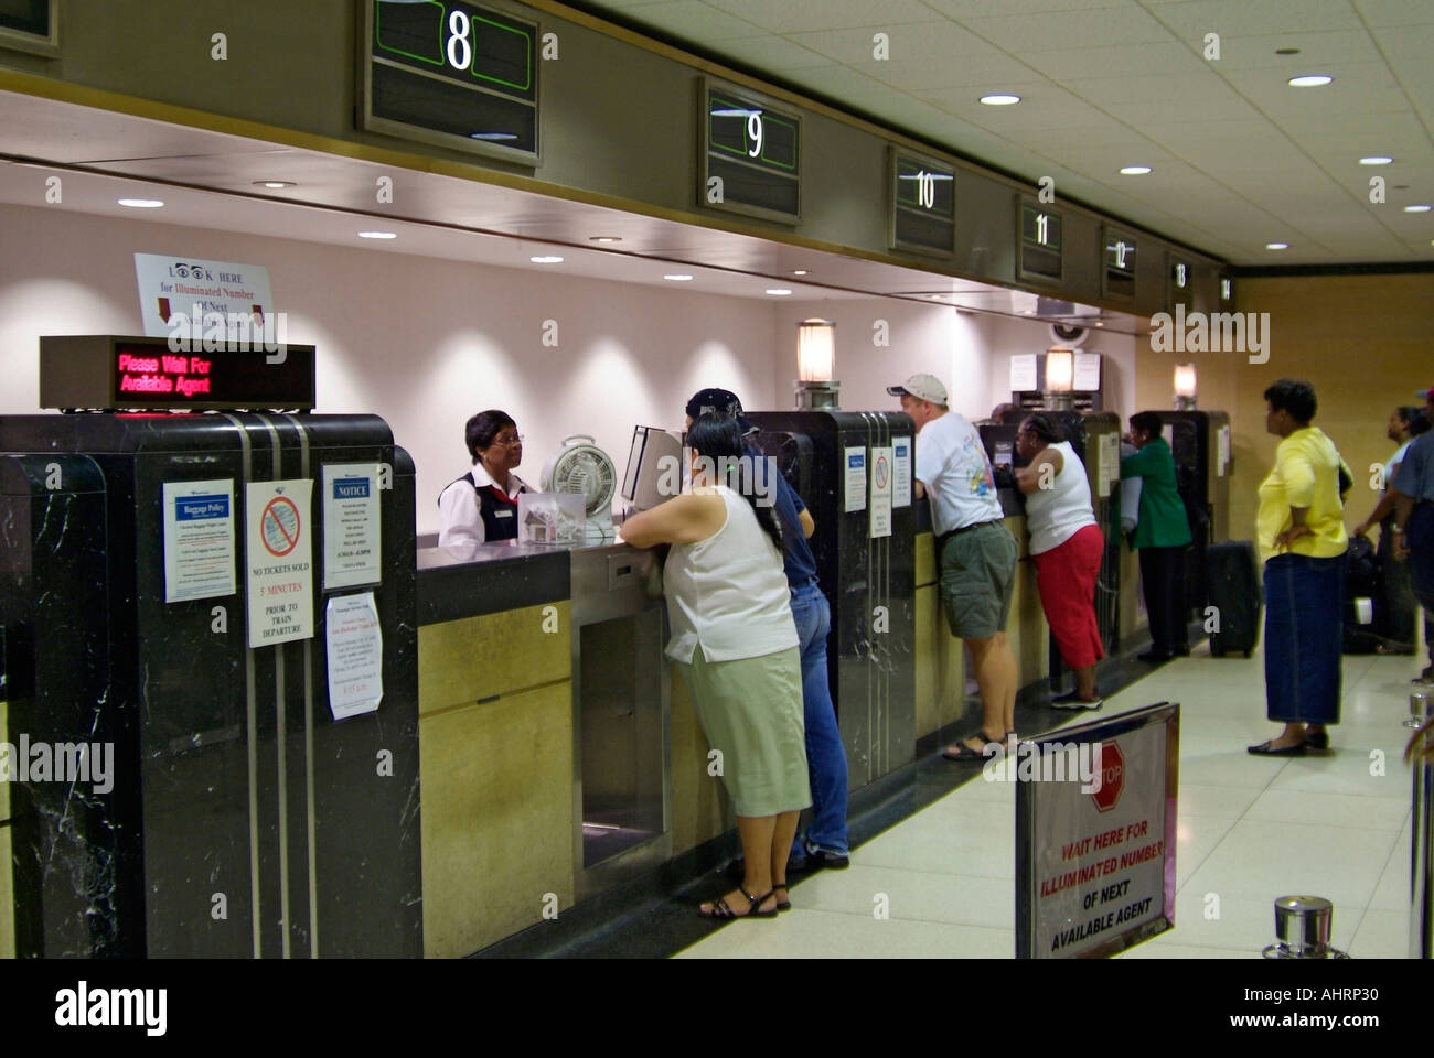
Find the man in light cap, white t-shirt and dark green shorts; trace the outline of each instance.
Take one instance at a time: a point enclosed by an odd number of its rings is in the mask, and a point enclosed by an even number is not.
[[[886,390],[916,423],[916,499],[931,497],[941,563],[941,602],[951,634],[971,648],[981,688],[981,730],[942,753],[946,760],[984,761],[989,744],[1015,734],[1020,672],[1005,638],[1015,586],[1017,543],[1005,528],[991,460],[981,434],[948,409],[946,387],[913,374]]]

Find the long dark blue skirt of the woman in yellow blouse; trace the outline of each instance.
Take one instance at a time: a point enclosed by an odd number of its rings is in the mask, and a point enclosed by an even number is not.
[[[1265,563],[1265,704],[1282,724],[1338,724],[1345,556]]]

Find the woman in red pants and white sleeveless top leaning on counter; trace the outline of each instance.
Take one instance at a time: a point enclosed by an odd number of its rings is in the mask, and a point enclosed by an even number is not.
[[[1096,662],[1106,651],[1096,622],[1096,579],[1106,538],[1096,523],[1086,467],[1060,427],[1040,414],[1021,423],[1015,450],[1030,460],[1017,472],[1015,483],[1025,493],[1025,529],[1041,608],[1065,667],[1076,672],[1076,690],[1051,705],[1098,710]]]

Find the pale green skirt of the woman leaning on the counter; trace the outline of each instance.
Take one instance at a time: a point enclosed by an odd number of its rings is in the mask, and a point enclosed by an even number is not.
[[[760,658],[707,661],[698,645],[677,662],[739,816],[776,816],[812,804],[796,647]]]

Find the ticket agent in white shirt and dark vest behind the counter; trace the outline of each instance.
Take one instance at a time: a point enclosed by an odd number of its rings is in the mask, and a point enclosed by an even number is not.
[[[512,540],[518,536],[518,495],[529,492],[513,470],[523,459],[518,426],[496,409],[467,420],[463,432],[473,469],[439,496],[439,546]]]

